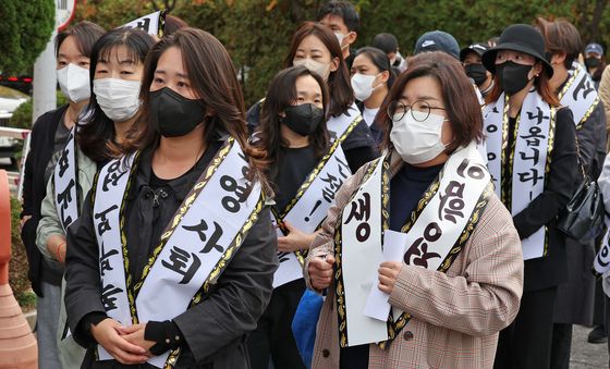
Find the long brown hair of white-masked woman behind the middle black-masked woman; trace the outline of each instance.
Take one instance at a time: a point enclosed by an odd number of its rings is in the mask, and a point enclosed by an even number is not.
[[[328,76],[328,89],[330,90],[330,108],[328,110],[329,114],[332,116],[339,116],[347,111],[350,106],[354,102],[354,91],[352,90],[352,85],[350,83],[350,72],[347,71],[347,65],[343,60],[343,53],[341,52],[341,46],[337,36],[330,30],[330,28],[322,26],[319,23],[305,22],[292,35],[292,41],[290,45],[290,52],[284,59],[284,67],[293,65],[294,56],[298,49],[298,45],[307,36],[316,36],[326,48],[330,51],[330,58],[339,58],[339,67],[334,72],[330,72]]]

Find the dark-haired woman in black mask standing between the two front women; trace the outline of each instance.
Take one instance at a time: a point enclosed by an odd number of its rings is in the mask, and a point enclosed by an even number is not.
[[[248,339],[253,368],[267,369],[270,360],[276,368],[305,367],[291,330],[305,291],[302,253],[350,170],[341,149],[345,135],[330,146],[324,124],[328,104],[324,79],[305,66],[292,66],[273,78],[260,111],[254,145],[267,152],[281,263],[271,302]]]

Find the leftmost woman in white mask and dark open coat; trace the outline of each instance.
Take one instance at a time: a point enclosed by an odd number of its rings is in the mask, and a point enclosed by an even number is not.
[[[78,114],[89,100],[89,58],[103,29],[81,22],[56,38],[57,76],[69,103],[40,115],[32,140],[23,182],[22,239],[26,247],[29,279],[37,298],[38,359],[41,367],[61,368],[57,353],[57,316],[60,308],[61,268],[45,259],[36,247],[36,227],[47,182]],[[53,93],[54,94],[54,93]]]

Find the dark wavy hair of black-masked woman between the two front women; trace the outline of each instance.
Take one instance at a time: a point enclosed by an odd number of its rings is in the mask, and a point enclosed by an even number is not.
[[[293,106],[296,102],[296,79],[302,76],[310,75],[316,79],[322,90],[322,106],[328,107],[329,94],[322,77],[316,73],[309,72],[305,66],[291,66],[278,73],[265,98],[265,103],[260,110],[260,127],[258,140],[254,144],[260,147],[261,150],[267,150],[266,162],[269,169],[277,168],[276,164],[280,158],[280,147],[288,146],[288,143],[282,139],[280,112],[285,108]],[[309,145],[314,147],[315,153],[321,158],[328,149],[330,138],[326,124],[319,124],[318,128],[309,135]],[[274,173],[269,173],[272,177]]]

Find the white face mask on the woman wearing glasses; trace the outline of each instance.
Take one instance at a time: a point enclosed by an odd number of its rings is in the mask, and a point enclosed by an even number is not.
[[[410,164],[420,164],[438,157],[444,149],[441,140],[444,116],[430,113],[428,118],[418,122],[413,114],[424,119],[426,113],[407,111],[400,121],[393,121],[390,140],[401,156]]]

